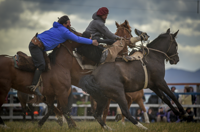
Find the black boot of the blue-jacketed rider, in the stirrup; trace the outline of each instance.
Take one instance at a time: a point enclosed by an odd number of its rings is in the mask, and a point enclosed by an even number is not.
[[[40,71],[39,69],[36,69],[35,70],[35,74],[33,76],[33,81],[32,81],[32,85],[31,86],[28,86],[28,88],[30,89],[30,91],[34,91],[35,89],[35,94],[38,95],[38,96],[42,96],[42,94],[40,93],[39,89],[38,88],[35,88],[39,79],[40,79],[40,75],[41,75],[42,71]]]

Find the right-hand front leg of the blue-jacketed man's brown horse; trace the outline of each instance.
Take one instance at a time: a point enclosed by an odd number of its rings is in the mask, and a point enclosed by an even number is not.
[[[70,92],[69,96],[68,96],[68,92]],[[74,122],[74,120],[71,118],[71,115],[70,115],[72,103],[73,103],[72,90],[70,89],[70,91],[67,91],[67,89],[66,89],[66,91],[65,92],[63,91],[62,94],[60,94],[57,97],[57,99],[60,103],[61,111],[62,111],[65,119],[67,120],[68,127],[76,128],[76,123]]]

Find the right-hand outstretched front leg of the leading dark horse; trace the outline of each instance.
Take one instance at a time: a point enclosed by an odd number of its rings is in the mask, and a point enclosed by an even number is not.
[[[181,104],[178,102],[178,100],[176,99],[175,95],[170,91],[169,87],[167,86],[166,82],[158,85],[158,88],[160,90],[162,90],[163,92],[165,92],[176,104],[176,106],[178,107],[179,111],[181,112],[181,115],[184,115],[186,112],[184,111],[183,107],[181,106]]]

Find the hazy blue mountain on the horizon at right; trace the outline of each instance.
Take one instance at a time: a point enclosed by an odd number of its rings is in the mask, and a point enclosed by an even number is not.
[[[168,69],[165,71],[167,83],[200,83],[200,69],[190,72],[181,69]]]

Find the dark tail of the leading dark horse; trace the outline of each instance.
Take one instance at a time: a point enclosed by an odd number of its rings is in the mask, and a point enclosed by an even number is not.
[[[100,86],[97,84],[94,75],[85,75],[79,81],[79,86],[83,89],[83,91],[87,92],[90,95],[98,94],[100,90]]]

